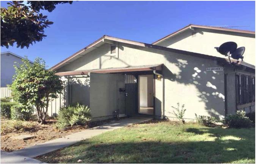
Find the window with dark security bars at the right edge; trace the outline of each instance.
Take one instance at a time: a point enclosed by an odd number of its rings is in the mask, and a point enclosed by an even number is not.
[[[236,104],[255,102],[255,77],[236,73]]]

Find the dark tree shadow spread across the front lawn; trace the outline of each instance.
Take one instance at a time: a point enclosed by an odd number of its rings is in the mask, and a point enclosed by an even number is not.
[[[248,133],[254,131],[254,133]],[[229,163],[255,161],[254,129],[188,128],[184,132],[201,135],[210,133],[207,141],[161,142],[141,139],[139,142],[117,141],[97,143],[88,140],[75,144],[60,156],[69,156],[64,161],[50,162],[77,163]],[[195,135],[195,137],[196,137]],[[182,137],[182,136],[181,136]],[[199,137],[199,136],[198,136]],[[203,137],[203,136],[202,136]],[[55,154],[56,155],[56,154]],[[55,156],[54,155],[54,156]]]

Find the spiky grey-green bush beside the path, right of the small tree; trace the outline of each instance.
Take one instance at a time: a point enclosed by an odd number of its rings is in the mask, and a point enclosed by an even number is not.
[[[90,120],[91,114],[88,106],[77,103],[60,109],[57,117],[57,127],[63,129],[73,125],[84,125]]]

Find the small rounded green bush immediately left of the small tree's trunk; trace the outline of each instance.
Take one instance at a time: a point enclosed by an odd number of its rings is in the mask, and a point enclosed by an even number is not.
[[[29,120],[32,117],[33,108],[25,111],[24,107],[20,104],[11,106],[11,119],[13,120]]]

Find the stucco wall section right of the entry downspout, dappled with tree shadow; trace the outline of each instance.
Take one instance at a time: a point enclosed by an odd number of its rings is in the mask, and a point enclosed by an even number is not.
[[[225,115],[224,71],[206,71],[220,67],[215,61],[182,54],[166,55],[165,116],[175,117],[173,107],[184,104],[184,118],[197,115],[223,117]]]

